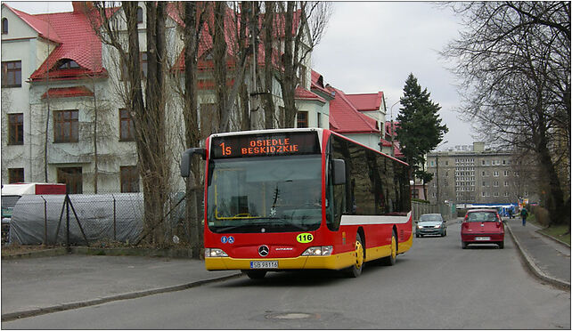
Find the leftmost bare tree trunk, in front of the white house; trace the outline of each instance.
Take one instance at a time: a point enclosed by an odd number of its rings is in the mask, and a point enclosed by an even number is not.
[[[126,103],[135,126],[139,173],[143,179],[144,226],[143,238],[156,246],[165,245],[163,218],[168,200],[168,166],[165,103],[168,66],[166,50],[166,5],[163,2],[145,3],[147,39],[147,77],[139,51],[137,3],[123,2],[124,16],[113,8],[115,3],[94,4],[98,15],[94,20],[95,32],[104,44],[119,54],[126,67]],[[111,14],[110,14],[111,12]],[[127,30],[127,35],[126,35]],[[145,93],[143,95],[143,85]]]

